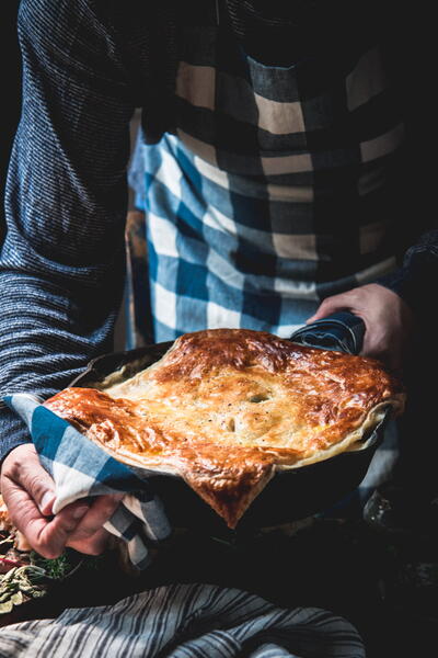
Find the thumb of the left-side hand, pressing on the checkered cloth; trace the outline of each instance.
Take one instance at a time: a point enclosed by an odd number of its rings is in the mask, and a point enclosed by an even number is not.
[[[8,478],[28,491],[42,514],[49,515],[55,502],[55,483],[41,465],[33,445],[23,446],[25,451],[20,451],[19,447],[13,453],[14,458],[8,468]]]

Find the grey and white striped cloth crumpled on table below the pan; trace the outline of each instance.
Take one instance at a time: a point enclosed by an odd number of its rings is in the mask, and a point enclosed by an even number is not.
[[[3,658],[365,658],[357,631],[316,608],[287,610],[237,589],[171,585],[104,608],[2,628]]]

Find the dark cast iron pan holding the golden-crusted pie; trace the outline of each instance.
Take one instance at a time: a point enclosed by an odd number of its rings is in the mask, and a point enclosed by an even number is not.
[[[172,344],[157,343],[99,356],[70,386],[101,388],[107,375],[115,372],[117,383],[123,382],[158,361]],[[250,506],[238,530],[268,527],[303,519],[328,509],[356,489],[383,439],[388,417],[387,412],[376,430],[364,438],[364,449],[359,451],[344,452],[300,468],[278,470]],[[152,477],[153,489],[163,501],[173,526],[203,529],[208,533],[226,530],[222,519],[181,477],[162,474]]]

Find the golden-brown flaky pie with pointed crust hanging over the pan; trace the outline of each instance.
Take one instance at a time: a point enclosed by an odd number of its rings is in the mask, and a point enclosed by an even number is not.
[[[354,450],[404,394],[372,359],[212,329],[125,382],[45,405],[119,462],[183,477],[235,527],[276,469]]]

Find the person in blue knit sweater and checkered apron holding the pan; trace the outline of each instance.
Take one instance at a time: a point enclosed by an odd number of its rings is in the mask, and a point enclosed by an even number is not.
[[[374,12],[346,1],[22,1],[2,395],[53,395],[112,349],[135,107],[131,180],[148,215],[157,341],[221,326],[288,337],[347,308],[365,320],[362,353],[401,366],[438,240],[428,216],[400,220],[412,168]],[[66,545],[100,553],[118,500],[51,518],[53,481],[5,408],[1,434],[1,491],[31,545],[46,557]]]

